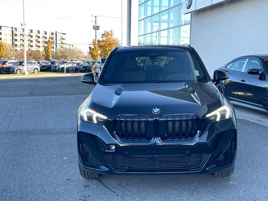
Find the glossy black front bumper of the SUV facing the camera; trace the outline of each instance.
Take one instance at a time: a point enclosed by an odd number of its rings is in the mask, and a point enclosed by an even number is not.
[[[104,125],[78,119],[79,163],[83,169],[101,174],[200,174],[231,168],[236,157],[235,117],[217,123],[204,122],[206,125],[202,125],[202,131],[192,142],[165,144],[154,137],[149,144],[126,144]]]

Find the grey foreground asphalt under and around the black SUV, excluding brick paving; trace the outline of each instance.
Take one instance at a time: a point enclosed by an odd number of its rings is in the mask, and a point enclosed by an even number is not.
[[[267,200],[267,127],[238,120],[235,170],[204,175],[80,176],[76,130],[0,132],[1,200]]]

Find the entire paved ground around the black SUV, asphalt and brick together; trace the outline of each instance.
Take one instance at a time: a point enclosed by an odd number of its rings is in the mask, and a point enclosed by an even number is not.
[[[237,159],[230,177],[83,179],[77,163],[76,111],[93,85],[80,78],[0,80],[1,200],[267,200],[267,126],[255,123],[258,118],[252,115],[251,121],[237,120]],[[236,111],[242,118],[258,114],[240,107]],[[261,114],[267,122],[267,114]]]

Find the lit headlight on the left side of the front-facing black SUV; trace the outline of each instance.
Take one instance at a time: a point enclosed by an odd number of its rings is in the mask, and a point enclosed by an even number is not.
[[[105,124],[108,120],[107,117],[103,116],[102,114],[99,114],[93,110],[91,110],[87,104],[85,104],[80,111],[80,119],[82,121],[91,122],[94,124]]]

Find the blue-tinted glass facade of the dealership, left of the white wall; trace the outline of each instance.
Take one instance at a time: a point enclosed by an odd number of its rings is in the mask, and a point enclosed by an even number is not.
[[[183,13],[183,0],[139,0],[138,43],[190,43],[191,15]]]

